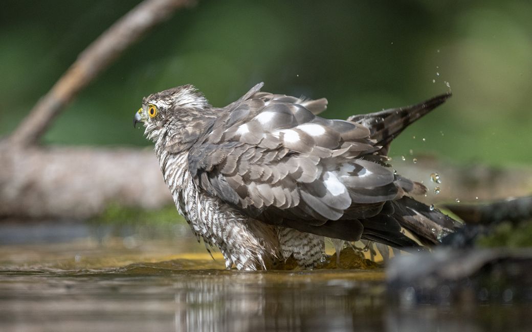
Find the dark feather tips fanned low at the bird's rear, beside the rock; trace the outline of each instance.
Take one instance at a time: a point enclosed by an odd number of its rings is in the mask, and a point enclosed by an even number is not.
[[[438,209],[431,209],[407,196],[393,201],[393,204],[393,217],[423,244],[438,244],[463,225]]]

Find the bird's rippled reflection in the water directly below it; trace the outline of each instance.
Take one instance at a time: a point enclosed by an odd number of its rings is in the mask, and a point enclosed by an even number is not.
[[[176,330],[381,327],[380,282],[356,279],[356,274],[335,278],[330,273],[228,273],[181,280],[174,284],[180,308]]]

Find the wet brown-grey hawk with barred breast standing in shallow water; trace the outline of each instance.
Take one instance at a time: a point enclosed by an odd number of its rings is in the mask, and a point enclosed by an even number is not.
[[[290,257],[313,268],[326,237],[422,248],[460,226],[411,198],[427,189],[395,174],[386,156],[397,134],[450,93],[344,121],[317,116],[325,98],[262,86],[223,108],[180,86],[145,97],[135,114],[179,213],[228,269],[267,269]]]

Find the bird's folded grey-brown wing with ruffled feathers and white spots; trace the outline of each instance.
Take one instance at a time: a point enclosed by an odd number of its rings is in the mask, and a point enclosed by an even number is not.
[[[325,105],[254,92],[220,112],[190,149],[189,172],[206,192],[254,218],[358,240],[359,219],[378,214],[412,182],[398,184],[386,157],[373,155],[380,147],[367,127],[307,109]]]

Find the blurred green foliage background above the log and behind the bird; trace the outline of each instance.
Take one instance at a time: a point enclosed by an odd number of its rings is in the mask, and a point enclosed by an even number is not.
[[[137,3],[4,0],[0,135]],[[453,98],[401,135],[392,155],[530,165],[530,13],[527,1],[200,1],[127,50],[44,142],[146,146],[131,126],[142,97],[185,83],[225,106],[264,81],[265,91],[327,97],[323,115],[345,118],[417,103],[448,82]]]

